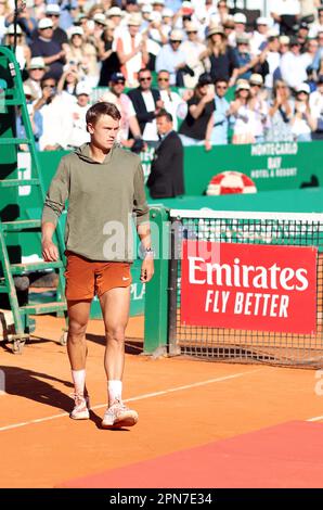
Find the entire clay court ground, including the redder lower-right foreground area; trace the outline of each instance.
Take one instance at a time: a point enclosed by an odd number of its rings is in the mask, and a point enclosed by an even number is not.
[[[38,317],[21,356],[0,343],[1,487],[323,487],[323,373],[320,384],[315,370],[153,359],[132,318],[124,397],[140,420],[106,431],[103,324],[88,329],[93,410],[81,422],[68,418],[62,327]]]

